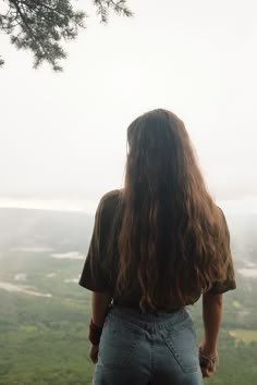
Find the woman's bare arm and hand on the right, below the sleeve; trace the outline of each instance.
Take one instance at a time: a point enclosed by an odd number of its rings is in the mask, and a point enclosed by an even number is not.
[[[203,295],[204,337],[200,344],[200,357],[212,360],[217,357],[217,341],[222,318],[222,294]],[[216,370],[215,364],[201,367],[205,377],[209,377]]]

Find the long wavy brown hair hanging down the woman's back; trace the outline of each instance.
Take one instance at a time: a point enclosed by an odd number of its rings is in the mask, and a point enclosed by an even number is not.
[[[137,117],[127,144],[115,289],[139,293],[143,309],[188,305],[227,278],[223,213],[176,115],[158,109]]]

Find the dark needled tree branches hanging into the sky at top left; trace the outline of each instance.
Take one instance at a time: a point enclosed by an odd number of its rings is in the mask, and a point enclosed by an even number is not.
[[[102,23],[111,11],[131,16],[126,0],[94,0]],[[66,58],[63,42],[75,39],[85,28],[86,13],[76,10],[74,0],[0,0],[0,30],[10,35],[17,49],[30,50],[34,67],[48,62],[61,71],[60,60]],[[0,66],[4,60],[0,57]]]

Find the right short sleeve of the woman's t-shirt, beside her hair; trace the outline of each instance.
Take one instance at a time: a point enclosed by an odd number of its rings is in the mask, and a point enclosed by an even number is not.
[[[224,224],[224,232],[225,232],[225,238],[228,241],[228,253],[224,256],[224,266],[227,271],[227,278],[225,281],[222,282],[215,282],[211,286],[211,288],[208,290],[210,294],[223,294],[229,290],[233,290],[236,288],[236,283],[235,283],[235,274],[234,274],[234,266],[233,266],[233,259],[231,254],[231,248],[230,248],[230,232],[229,227],[225,221],[225,216],[221,210],[222,218],[223,218],[223,224]]]

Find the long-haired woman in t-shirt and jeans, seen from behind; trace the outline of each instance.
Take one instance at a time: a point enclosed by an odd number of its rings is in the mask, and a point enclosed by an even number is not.
[[[209,375],[221,294],[235,288],[225,219],[173,113],[154,110],[136,119],[127,145],[124,188],[98,206],[79,281],[93,290],[90,357],[100,358],[94,384],[199,385],[185,306],[203,294],[200,362]]]

